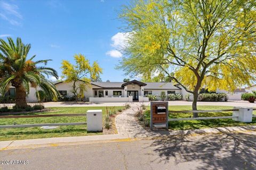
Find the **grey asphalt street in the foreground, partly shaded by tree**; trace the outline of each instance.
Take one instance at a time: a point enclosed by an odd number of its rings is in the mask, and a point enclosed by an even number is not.
[[[256,131],[52,145],[0,156],[1,169],[9,170],[256,169]]]

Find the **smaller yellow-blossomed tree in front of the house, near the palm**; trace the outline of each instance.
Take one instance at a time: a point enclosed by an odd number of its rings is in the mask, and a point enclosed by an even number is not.
[[[89,60],[85,58],[84,55],[78,54],[74,55],[75,65],[71,64],[67,60],[62,61],[61,69],[63,78],[66,82],[73,82],[72,93],[78,101],[78,98],[84,98],[84,91],[86,91],[86,86],[90,86],[90,78],[96,80],[99,78],[99,74],[102,73],[102,69],[97,62],[93,62],[90,65]],[[84,83],[77,84],[79,80]]]

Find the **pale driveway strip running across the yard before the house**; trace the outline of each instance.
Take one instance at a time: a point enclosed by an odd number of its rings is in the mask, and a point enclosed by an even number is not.
[[[85,106],[124,106],[126,103],[90,103],[90,102],[47,102],[44,103],[45,107],[85,107]],[[146,106],[150,105],[150,102],[143,103]],[[130,103],[132,106],[141,105],[139,102]],[[192,105],[192,101],[169,101],[171,105]],[[249,103],[248,101],[226,101],[226,102],[201,102],[197,103],[199,106],[243,106],[243,107],[256,107],[256,103]]]

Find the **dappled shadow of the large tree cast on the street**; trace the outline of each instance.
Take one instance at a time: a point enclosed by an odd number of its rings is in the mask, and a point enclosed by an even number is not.
[[[250,126],[247,130],[254,130]],[[227,130],[227,129],[226,129]],[[147,148],[159,157],[153,162],[175,163],[198,161],[197,169],[256,169],[256,135],[218,129],[221,134],[169,135],[156,138]]]

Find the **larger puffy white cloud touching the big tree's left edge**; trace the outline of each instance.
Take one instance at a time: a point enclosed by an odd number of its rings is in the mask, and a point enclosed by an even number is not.
[[[111,44],[112,47],[115,47],[117,49],[124,48],[127,45],[127,40],[129,37],[129,32],[118,32],[116,35],[111,37],[111,40],[113,43]]]

